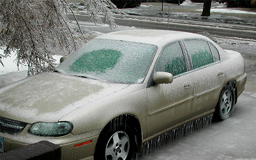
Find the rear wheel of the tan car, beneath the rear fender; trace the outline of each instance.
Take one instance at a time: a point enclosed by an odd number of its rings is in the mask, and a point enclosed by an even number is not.
[[[216,106],[214,115],[215,120],[223,121],[228,119],[233,113],[234,103],[234,88],[232,86],[226,85],[221,91],[220,98]]]

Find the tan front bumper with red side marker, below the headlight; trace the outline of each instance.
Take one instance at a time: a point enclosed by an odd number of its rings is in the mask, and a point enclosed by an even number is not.
[[[39,137],[28,134],[29,126],[30,125],[28,124],[18,135],[0,133],[0,137],[4,139],[3,146],[5,152],[46,140],[61,147],[61,159],[93,159],[99,130],[94,130],[80,135],[69,134],[62,137]],[[84,142],[89,143],[83,144]]]

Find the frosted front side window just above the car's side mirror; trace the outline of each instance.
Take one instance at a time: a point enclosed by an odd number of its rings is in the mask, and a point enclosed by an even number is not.
[[[186,72],[186,63],[179,42],[170,43],[163,48],[155,70],[169,72],[173,76]]]

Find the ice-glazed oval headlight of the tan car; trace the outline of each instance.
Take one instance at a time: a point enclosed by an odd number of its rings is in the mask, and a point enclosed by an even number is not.
[[[36,122],[29,128],[29,133],[36,136],[57,137],[69,134],[73,129],[71,122]]]

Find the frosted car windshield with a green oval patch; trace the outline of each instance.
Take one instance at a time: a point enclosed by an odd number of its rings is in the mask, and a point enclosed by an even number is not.
[[[93,39],[74,52],[58,72],[120,84],[141,84],[157,47],[151,44]]]

